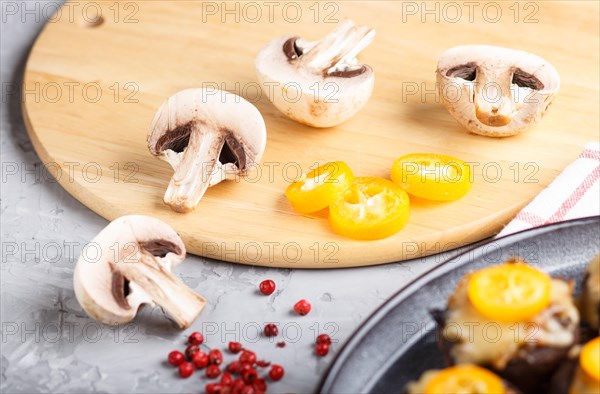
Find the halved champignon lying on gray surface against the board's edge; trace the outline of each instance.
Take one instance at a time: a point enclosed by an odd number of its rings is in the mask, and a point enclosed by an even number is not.
[[[75,295],[92,318],[111,325],[133,320],[142,304],[157,304],[181,328],[206,301],[171,269],[185,246],[166,223],[148,216],[122,216],[84,248],[74,273]]]

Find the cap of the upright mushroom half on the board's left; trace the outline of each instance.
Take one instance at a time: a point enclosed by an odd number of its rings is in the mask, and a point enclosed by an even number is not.
[[[260,161],[267,143],[262,115],[244,98],[216,89],[185,89],[169,97],[152,121],[148,133],[150,152],[175,167],[173,156],[187,145],[189,130],[186,136],[185,127],[191,122],[202,122],[215,131],[233,133],[246,153],[246,166]],[[171,136],[176,139],[175,143],[168,144],[165,136],[175,130],[178,135]]]

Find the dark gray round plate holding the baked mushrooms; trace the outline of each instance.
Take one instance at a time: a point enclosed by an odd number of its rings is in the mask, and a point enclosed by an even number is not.
[[[348,340],[320,393],[399,393],[427,369],[444,367],[431,309],[444,309],[469,271],[520,256],[553,276],[577,281],[600,251],[600,217],[561,222],[495,239],[427,272],[381,306]]]

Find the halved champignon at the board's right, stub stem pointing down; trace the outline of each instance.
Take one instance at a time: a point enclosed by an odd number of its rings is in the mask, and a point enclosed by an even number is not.
[[[469,131],[491,137],[533,127],[560,87],[558,72],[541,57],[489,45],[444,52],[437,82],[450,114]]]

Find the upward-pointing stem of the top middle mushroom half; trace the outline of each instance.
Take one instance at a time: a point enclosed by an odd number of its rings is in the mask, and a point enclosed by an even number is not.
[[[314,47],[305,50],[300,63],[321,72],[341,71],[373,41],[375,30],[345,20]],[[331,70],[333,69],[333,70]]]

